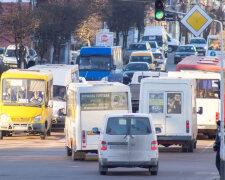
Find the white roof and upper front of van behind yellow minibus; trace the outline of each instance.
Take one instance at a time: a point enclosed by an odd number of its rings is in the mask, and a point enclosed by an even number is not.
[[[78,65],[67,64],[45,64],[35,65],[30,67],[32,70],[44,70],[51,71],[53,74],[53,84],[58,86],[67,86],[72,82],[72,71],[78,71]],[[65,78],[62,78],[62,74],[65,74]]]

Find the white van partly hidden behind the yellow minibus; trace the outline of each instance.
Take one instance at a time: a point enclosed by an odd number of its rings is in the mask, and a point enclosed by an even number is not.
[[[47,70],[53,74],[53,128],[64,128],[66,114],[66,91],[71,82],[79,83],[78,65],[45,64],[30,67],[32,70]]]

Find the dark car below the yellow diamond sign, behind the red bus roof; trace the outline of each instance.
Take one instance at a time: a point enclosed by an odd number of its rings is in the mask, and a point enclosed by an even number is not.
[[[193,45],[182,45],[179,46],[174,55],[174,64],[180,62],[186,56],[197,56],[198,52]]]

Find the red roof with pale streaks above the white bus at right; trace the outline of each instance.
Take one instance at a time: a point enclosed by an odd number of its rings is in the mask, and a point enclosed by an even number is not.
[[[223,63],[225,65],[225,61]],[[212,56],[187,56],[177,64],[176,70],[182,69],[219,72],[220,59]]]

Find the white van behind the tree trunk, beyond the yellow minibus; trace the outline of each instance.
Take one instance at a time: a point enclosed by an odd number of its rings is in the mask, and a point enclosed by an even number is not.
[[[25,54],[25,67],[27,65],[29,50],[25,46],[26,54]],[[19,51],[19,49],[18,49]],[[18,55],[19,56],[19,55]],[[13,68],[17,68],[17,59],[16,59],[16,45],[9,45],[6,48],[5,55],[3,57],[3,63]]]

